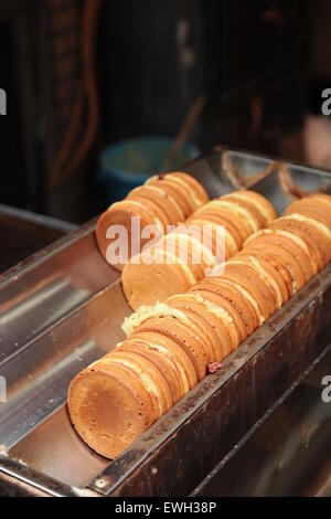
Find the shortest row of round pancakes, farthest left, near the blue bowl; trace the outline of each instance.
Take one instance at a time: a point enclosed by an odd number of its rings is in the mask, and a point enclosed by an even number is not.
[[[156,235],[161,236],[167,233],[168,226],[184,222],[207,201],[204,188],[190,174],[174,172],[151,177],[145,186],[134,189],[125,200],[110,205],[99,218],[96,229],[99,251],[113,266],[121,271],[126,261],[107,254],[117,236],[117,226],[121,225],[127,231],[130,258],[134,218],[139,219],[141,231],[152,226]],[[136,253],[149,241],[141,236],[141,232],[135,240],[139,241]]]

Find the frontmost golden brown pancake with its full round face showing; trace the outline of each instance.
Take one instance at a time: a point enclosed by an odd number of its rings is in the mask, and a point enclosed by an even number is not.
[[[79,436],[108,458],[116,458],[157,420],[137,377],[103,359],[75,377],[67,404]]]

